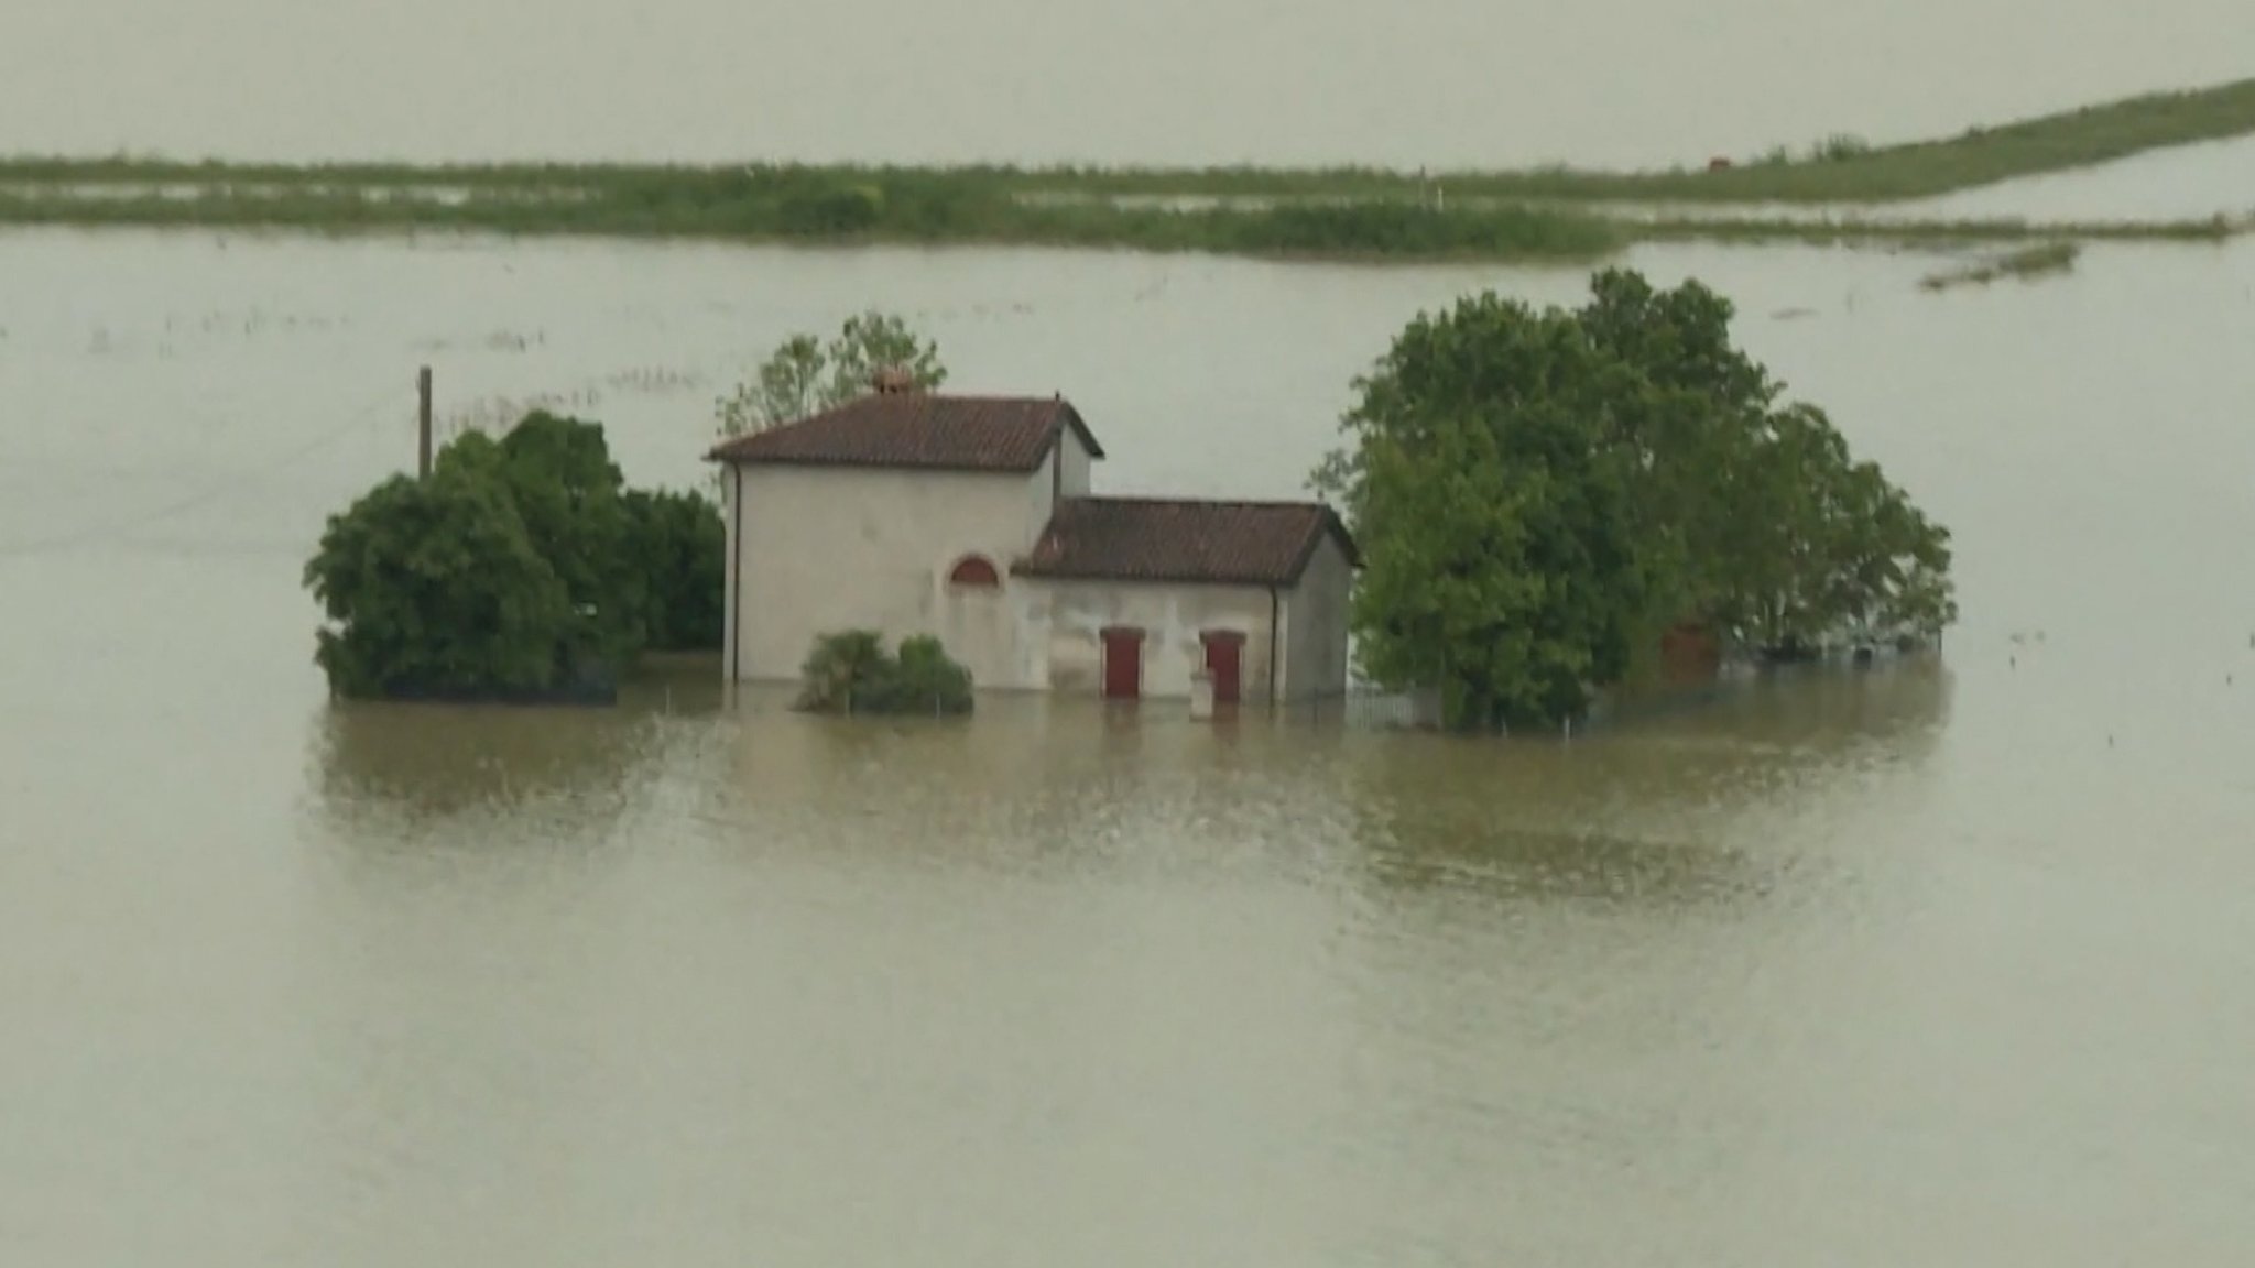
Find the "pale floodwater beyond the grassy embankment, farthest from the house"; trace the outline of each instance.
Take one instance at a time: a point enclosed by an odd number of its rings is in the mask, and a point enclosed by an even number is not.
[[[2244,0],[9,0],[0,151],[1698,165],[2250,63]]]

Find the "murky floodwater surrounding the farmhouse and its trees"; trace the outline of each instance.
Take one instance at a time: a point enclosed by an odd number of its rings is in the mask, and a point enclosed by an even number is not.
[[[688,483],[884,302],[1100,487],[1283,496],[1414,311],[1583,280],[0,235],[0,1259],[2239,1263],[2255,246],[1633,264],[1957,530],[1944,663],[1572,745],[331,706],[417,363]]]

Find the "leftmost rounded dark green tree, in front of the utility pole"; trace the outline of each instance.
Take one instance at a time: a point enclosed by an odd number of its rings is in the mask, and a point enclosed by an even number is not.
[[[462,467],[329,517],[304,584],[329,620],[313,659],[345,697],[546,688],[573,625],[510,494]]]

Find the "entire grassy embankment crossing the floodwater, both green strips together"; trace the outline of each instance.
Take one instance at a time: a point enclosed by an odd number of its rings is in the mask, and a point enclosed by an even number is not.
[[[2223,239],[2250,219],[2025,223],[1727,214],[1874,205],[2255,133],[2255,79],[1948,140],[1833,138],[1725,169],[226,165],[0,160],[0,223],[1010,244],[1342,259],[1592,259],[1633,241]],[[1441,205],[1434,192],[1445,192]],[[1168,205],[1168,201],[1209,201]],[[1608,205],[1664,208],[1608,214]],[[1703,210],[1705,208],[1705,210]]]

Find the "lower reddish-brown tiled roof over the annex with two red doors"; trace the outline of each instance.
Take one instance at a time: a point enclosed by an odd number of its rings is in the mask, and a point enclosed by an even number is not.
[[[1299,582],[1324,537],[1362,566],[1346,523],[1324,503],[1085,496],[1058,505],[1012,573],[1285,587]]]

